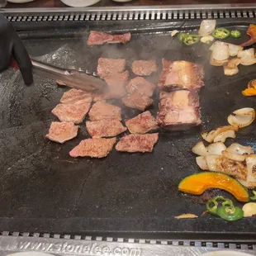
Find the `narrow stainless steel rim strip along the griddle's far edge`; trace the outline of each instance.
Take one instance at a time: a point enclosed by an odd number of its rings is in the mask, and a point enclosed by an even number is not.
[[[242,10],[255,9],[256,3],[251,4],[194,4],[194,5],[170,5],[148,7],[49,7],[49,8],[2,8],[0,12],[24,13],[24,12],[126,12],[126,11],[179,11],[179,10]]]

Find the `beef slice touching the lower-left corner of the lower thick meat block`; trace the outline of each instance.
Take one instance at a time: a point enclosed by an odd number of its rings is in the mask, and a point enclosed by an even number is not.
[[[158,123],[149,111],[145,111],[134,118],[126,120],[126,126],[130,133],[145,134],[158,129]]]

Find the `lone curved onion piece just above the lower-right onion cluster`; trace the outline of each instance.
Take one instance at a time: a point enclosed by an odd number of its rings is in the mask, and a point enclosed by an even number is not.
[[[237,111],[234,111],[228,116],[228,122],[231,126],[243,128],[249,126],[255,119],[254,108],[244,107]]]

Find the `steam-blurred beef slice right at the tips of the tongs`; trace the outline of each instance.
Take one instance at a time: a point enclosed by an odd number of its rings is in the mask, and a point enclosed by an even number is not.
[[[129,71],[123,73],[110,73],[105,77],[108,85],[108,92],[105,92],[105,98],[121,98],[126,95],[126,82],[130,76]]]

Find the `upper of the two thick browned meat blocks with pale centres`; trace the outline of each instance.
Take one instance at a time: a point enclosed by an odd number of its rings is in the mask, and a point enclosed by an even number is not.
[[[180,60],[162,60],[163,70],[159,78],[159,88],[168,92],[188,89],[198,90],[204,82],[204,72],[200,65]]]

